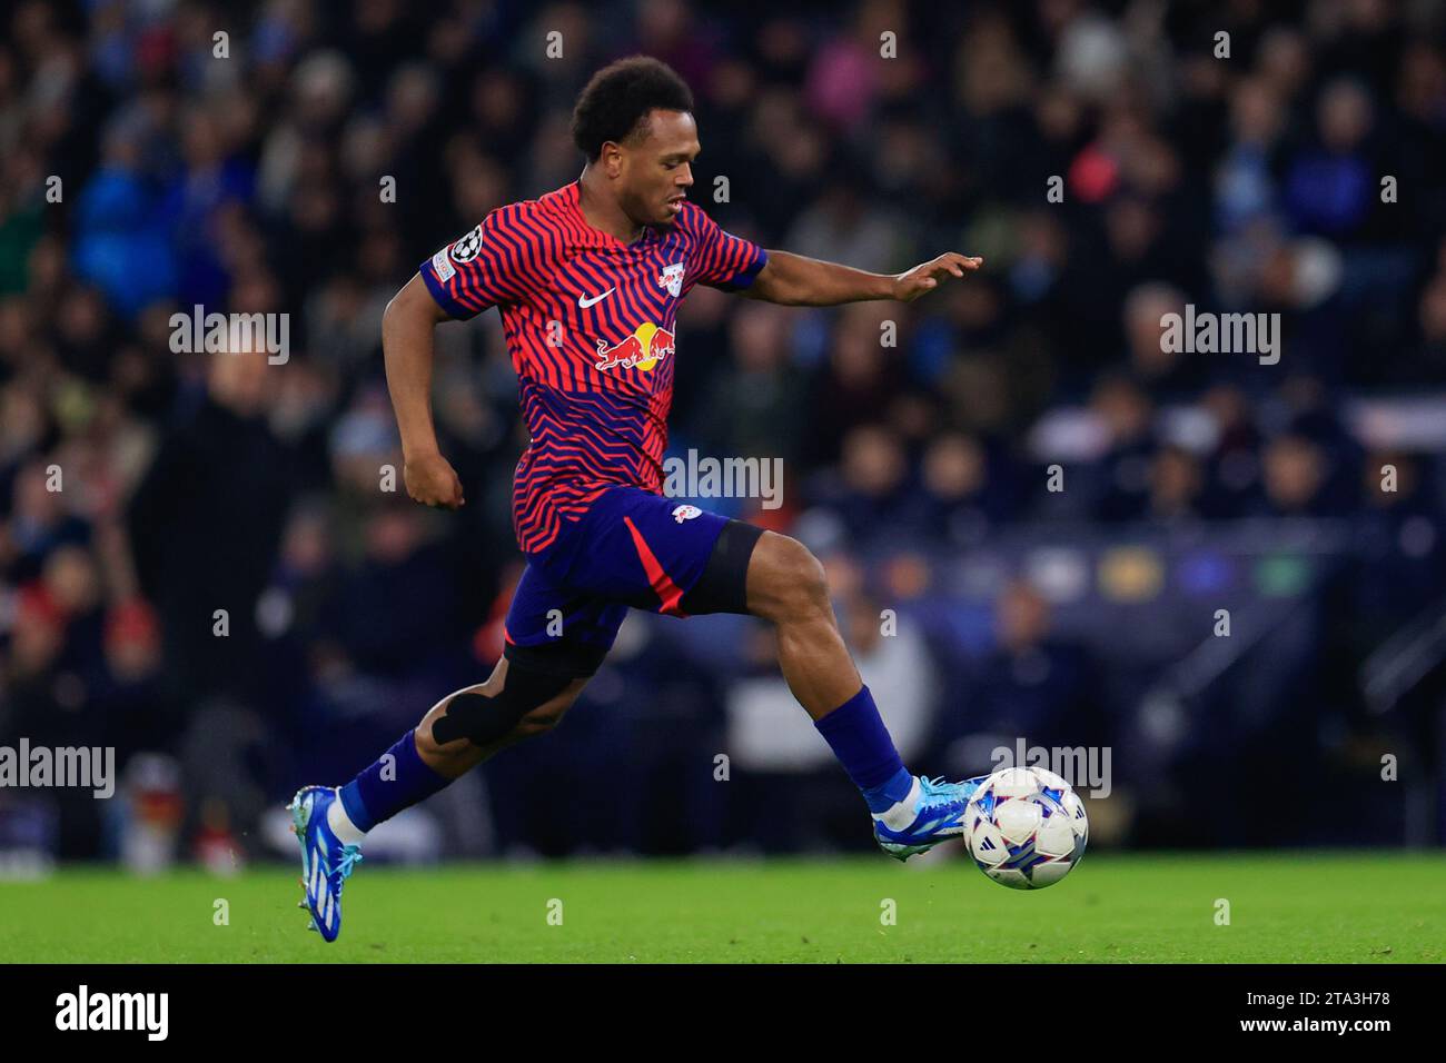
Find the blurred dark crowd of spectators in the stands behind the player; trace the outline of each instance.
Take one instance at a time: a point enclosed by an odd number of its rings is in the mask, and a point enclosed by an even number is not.
[[[635,52],[691,84],[730,231],[986,259],[907,307],[698,288],[678,321],[669,453],[782,460],[782,508],[698,502],[826,560],[915,771],[1108,749],[1103,843],[1443,840],[1442,3],[0,12],[0,745],[123,775],[0,791],[0,850],[270,855],[299,784],[489,674],[526,443],[500,324],[438,331],[442,515],[380,487],[382,311],[578,175],[573,100]],[[1278,363],[1170,353],[1187,304],[1278,314]],[[289,356],[175,353],[195,305],[289,314]],[[635,615],[555,733],[383,848],[868,848],[772,659],[742,618]]]

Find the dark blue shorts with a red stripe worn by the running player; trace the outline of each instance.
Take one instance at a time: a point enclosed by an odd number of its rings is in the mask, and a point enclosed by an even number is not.
[[[748,558],[762,529],[639,487],[600,495],[528,554],[503,655],[525,667],[591,675],[628,609],[668,616],[742,613]]]

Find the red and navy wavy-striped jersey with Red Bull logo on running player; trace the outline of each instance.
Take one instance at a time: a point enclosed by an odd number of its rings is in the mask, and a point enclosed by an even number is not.
[[[691,202],[623,243],[587,224],[580,194],[499,207],[421,266],[448,317],[502,314],[531,435],[512,484],[525,552],[612,486],[662,493],[678,302],[696,283],[748,288],[768,260]]]

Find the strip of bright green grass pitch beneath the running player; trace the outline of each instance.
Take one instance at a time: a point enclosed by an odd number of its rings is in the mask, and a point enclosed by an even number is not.
[[[362,865],[341,940],[305,930],[298,869],[137,879],[65,868],[0,884],[0,960],[1346,962],[1446,960],[1446,855],[1092,853],[1017,892],[957,849],[836,861]],[[215,926],[214,901],[230,905]],[[562,901],[549,926],[548,902]],[[881,921],[885,898],[897,921]],[[1231,924],[1216,924],[1216,900]]]

